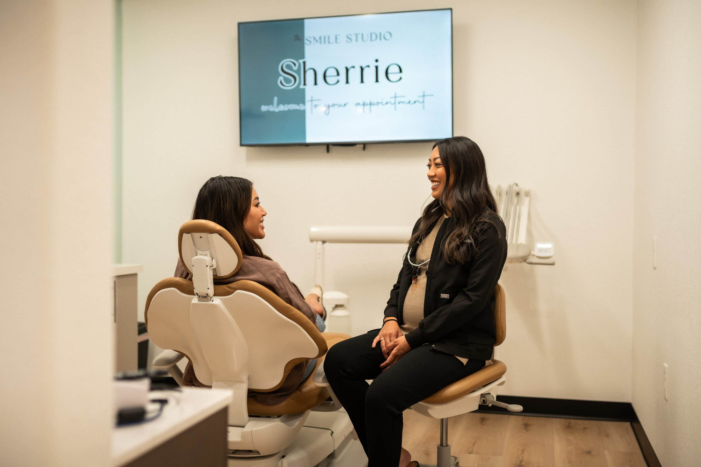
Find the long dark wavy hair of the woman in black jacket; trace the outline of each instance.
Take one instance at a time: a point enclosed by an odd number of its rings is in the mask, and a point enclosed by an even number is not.
[[[440,200],[433,200],[423,210],[409,245],[421,243],[436,221],[449,213],[455,228],[443,239],[442,254],[447,263],[465,263],[475,252],[486,225],[497,227],[493,219],[498,216],[498,208],[486,179],[484,155],[475,141],[446,138],[437,141],[433,145],[436,147],[445,168],[445,187]]]

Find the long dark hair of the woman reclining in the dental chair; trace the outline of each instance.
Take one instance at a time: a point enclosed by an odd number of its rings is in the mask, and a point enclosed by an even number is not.
[[[205,219],[229,230],[241,253],[270,259],[245,228],[243,220],[251,209],[253,182],[238,176],[213,176],[197,194],[193,219]]]

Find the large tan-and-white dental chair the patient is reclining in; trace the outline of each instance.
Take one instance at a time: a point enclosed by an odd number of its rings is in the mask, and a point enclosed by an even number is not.
[[[147,298],[149,336],[165,349],[155,368],[179,384],[187,358],[198,382],[233,392],[230,467],[358,467],[367,457],[348,414],[325,382],[323,359],[348,335],[320,333],[304,314],[252,281],[215,285],[241,265],[236,240],[220,225],[182,225],[178,249],[193,281],[170,277]],[[317,358],[312,374],[283,403],[261,405],[249,391],[278,389],[290,370]],[[331,396],[332,400],[328,400]]]

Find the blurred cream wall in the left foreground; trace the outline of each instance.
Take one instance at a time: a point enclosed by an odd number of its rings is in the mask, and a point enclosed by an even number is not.
[[[111,1],[0,3],[0,464],[109,465]]]

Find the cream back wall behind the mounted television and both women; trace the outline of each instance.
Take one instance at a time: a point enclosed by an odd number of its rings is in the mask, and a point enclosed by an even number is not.
[[[557,249],[554,267],[503,273],[504,392],[629,401],[635,3],[455,3],[455,134],[482,147],[492,183],[531,188],[531,237]],[[124,0],[123,260],[144,264],[140,303],[172,274],[177,229],[209,176],[256,183],[262,245],[303,289],[310,225],[412,225],[430,144],[238,146],[236,23],[444,6]],[[327,290],[351,295],[355,333],[381,322],[403,251],[328,246]]]

